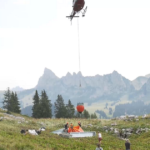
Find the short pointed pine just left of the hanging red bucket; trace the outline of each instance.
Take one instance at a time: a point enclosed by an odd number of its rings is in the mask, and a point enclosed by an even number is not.
[[[66,105],[66,118],[73,118],[75,113],[74,105],[72,105],[71,101],[68,100],[68,104]]]

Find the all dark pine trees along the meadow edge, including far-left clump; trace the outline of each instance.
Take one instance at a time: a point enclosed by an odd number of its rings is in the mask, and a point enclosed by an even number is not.
[[[54,107],[54,116],[52,116],[52,107]],[[8,88],[4,93],[3,108],[7,109],[7,112],[20,113],[21,108],[18,100],[17,93],[11,92]],[[68,103],[64,103],[64,99],[61,95],[57,96],[57,99],[52,106],[51,100],[49,100],[48,95],[45,90],[38,94],[35,91],[33,96],[33,107],[32,107],[32,117],[34,118],[97,118],[96,114],[89,114],[85,109],[82,114],[75,110],[75,106],[68,100]]]

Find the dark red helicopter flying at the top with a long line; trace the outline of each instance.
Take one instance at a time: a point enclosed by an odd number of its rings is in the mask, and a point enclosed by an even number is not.
[[[85,5],[85,1],[84,0],[73,0],[72,2],[72,7],[73,7],[73,10],[70,14],[70,16],[66,16],[67,18],[70,18],[70,21],[74,18],[74,17],[79,17],[79,16],[75,16],[77,13],[81,12],[81,10],[83,9]],[[87,6],[85,9],[83,9],[83,12],[82,13],[82,17],[85,16],[85,13],[87,11]]]

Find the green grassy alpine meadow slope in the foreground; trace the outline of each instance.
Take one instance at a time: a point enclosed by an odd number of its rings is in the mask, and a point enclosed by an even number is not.
[[[3,113],[0,114],[0,117]],[[54,135],[51,131],[60,129],[66,121],[72,122],[74,125],[77,119],[32,119],[23,116],[28,123],[18,123],[11,119],[0,121],[0,150],[94,150],[98,143],[97,136],[92,138],[76,138],[65,139],[58,135]],[[102,130],[104,125],[110,126],[114,121],[107,120],[86,120],[81,119],[82,125],[93,124],[95,127],[83,128],[85,131],[101,131],[103,136],[102,147],[104,150],[124,150],[124,141],[110,133]],[[22,135],[21,129],[38,129],[44,123],[46,131],[39,136]],[[139,122],[117,121],[117,128],[149,127],[150,119],[140,120]],[[97,129],[98,127],[98,129]],[[148,150],[150,149],[150,132],[142,135],[132,135],[130,138],[132,150]]]

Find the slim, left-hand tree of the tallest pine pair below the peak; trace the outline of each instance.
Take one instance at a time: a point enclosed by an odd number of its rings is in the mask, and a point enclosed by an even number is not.
[[[38,95],[38,91],[35,91],[35,95],[33,97],[33,107],[32,107],[32,117],[40,118],[40,98]]]

